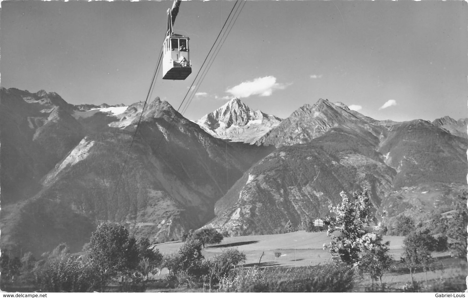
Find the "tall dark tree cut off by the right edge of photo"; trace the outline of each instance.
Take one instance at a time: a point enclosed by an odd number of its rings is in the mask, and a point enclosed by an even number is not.
[[[457,196],[453,203],[452,218],[447,220],[446,236],[451,240],[449,248],[453,256],[466,258],[467,256],[467,192]]]

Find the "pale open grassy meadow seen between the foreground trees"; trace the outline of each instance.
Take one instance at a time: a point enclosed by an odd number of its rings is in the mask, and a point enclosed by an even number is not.
[[[403,253],[404,237],[384,236],[383,241],[390,241],[390,254],[395,261],[399,261]],[[207,244],[202,253],[205,258],[222,253],[229,248],[237,248],[247,256],[244,267],[258,264],[260,256],[264,253],[261,261],[262,267],[300,267],[318,265],[320,263],[331,262],[331,255],[328,250],[323,249],[324,243],[329,243],[330,238],[327,232],[307,233],[298,231],[287,234],[273,235],[250,235],[225,238],[219,244]],[[184,242],[167,242],[157,244],[161,253],[176,252]],[[275,258],[274,252],[281,252],[281,256]],[[427,278],[433,284],[441,280],[446,280],[453,284],[453,288],[463,287],[467,275],[467,264],[459,259],[451,258],[447,252],[433,253],[435,270],[429,271]],[[161,277],[165,276],[167,270],[161,272]],[[414,280],[425,284],[426,276],[424,272],[418,270],[414,275]],[[401,265],[395,266],[391,272],[382,277],[382,282],[389,288],[399,289],[404,284],[411,281],[409,270]],[[364,276],[364,280],[356,287],[356,291],[364,291],[370,280]]]

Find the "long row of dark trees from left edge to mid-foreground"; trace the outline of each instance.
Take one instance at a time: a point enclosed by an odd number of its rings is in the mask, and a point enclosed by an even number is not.
[[[120,284],[121,291],[135,291],[162,268],[168,268],[169,282],[211,287],[246,259],[237,249],[229,249],[205,260],[202,247],[222,239],[215,229],[192,231],[178,252],[162,255],[147,238],[136,240],[125,227],[102,223],[92,233],[83,255],[71,254],[63,243],[39,260],[31,253],[19,259],[3,252],[0,263],[3,278],[12,280],[21,275],[23,280],[34,281],[41,290],[51,292],[105,291],[112,283]]]

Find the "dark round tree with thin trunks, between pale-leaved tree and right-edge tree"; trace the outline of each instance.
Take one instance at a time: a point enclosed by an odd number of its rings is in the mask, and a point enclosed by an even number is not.
[[[432,263],[431,252],[436,249],[437,240],[430,234],[429,230],[416,230],[409,233],[403,241],[402,262],[408,267],[411,282],[413,273],[417,266],[423,266],[426,272]]]

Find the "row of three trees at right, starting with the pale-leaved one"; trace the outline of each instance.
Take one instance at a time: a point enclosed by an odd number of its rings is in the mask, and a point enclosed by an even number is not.
[[[340,193],[342,202],[329,206],[334,216],[326,218],[329,223],[327,234],[332,238],[329,248],[336,263],[352,265],[361,274],[369,273],[371,279],[380,280],[390,270],[394,260],[388,254],[389,242],[382,242],[382,234],[369,231],[366,227],[374,220],[368,191],[354,193],[349,199],[345,192]],[[409,217],[400,215],[394,222],[394,232],[406,236],[401,262],[409,269],[411,280],[417,268],[426,272],[433,268],[431,253],[451,249],[453,256],[465,258],[467,255],[468,211],[467,194],[463,193],[453,203],[453,213],[446,220],[444,233],[434,237],[434,229],[416,226]],[[437,230],[437,229],[436,229]],[[439,232],[439,230],[437,230]],[[450,239],[450,243],[447,242]]]

